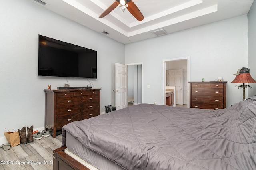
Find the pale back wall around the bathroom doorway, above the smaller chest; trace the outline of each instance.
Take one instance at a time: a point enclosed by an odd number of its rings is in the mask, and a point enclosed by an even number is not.
[[[125,64],[143,62],[144,103],[163,104],[163,60],[191,58],[190,81],[227,84],[227,107],[242,100],[242,90],[230,83],[247,67],[247,15],[125,45]],[[150,85],[151,88],[147,88]]]

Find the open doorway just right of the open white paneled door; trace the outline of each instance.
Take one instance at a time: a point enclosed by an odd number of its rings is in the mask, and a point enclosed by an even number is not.
[[[142,63],[127,65],[127,104],[128,106],[142,103]]]

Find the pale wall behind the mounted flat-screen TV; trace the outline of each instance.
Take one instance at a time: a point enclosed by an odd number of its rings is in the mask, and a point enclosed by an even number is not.
[[[44,89],[63,86],[66,78],[38,77],[38,34],[98,51],[101,111],[114,105],[115,63],[124,64],[124,45],[72,22],[28,0],[2,0],[0,5],[0,144],[4,128],[44,128]],[[68,78],[71,86],[86,79]]]

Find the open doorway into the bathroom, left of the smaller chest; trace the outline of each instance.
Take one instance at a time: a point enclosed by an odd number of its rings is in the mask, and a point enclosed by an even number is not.
[[[164,60],[163,101],[165,103],[166,89],[174,91],[176,107],[189,106],[188,81],[190,80],[190,57]]]

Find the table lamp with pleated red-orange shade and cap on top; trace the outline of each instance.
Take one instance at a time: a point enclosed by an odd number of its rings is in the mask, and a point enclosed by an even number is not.
[[[231,81],[231,83],[243,83],[243,85],[238,85],[238,89],[243,88],[243,100],[245,100],[245,89],[247,89],[247,87],[252,89],[252,87],[244,85],[244,83],[256,83],[256,81],[250,75],[250,69],[248,68],[240,68],[237,70],[237,73],[233,75],[236,75],[236,78]]]

